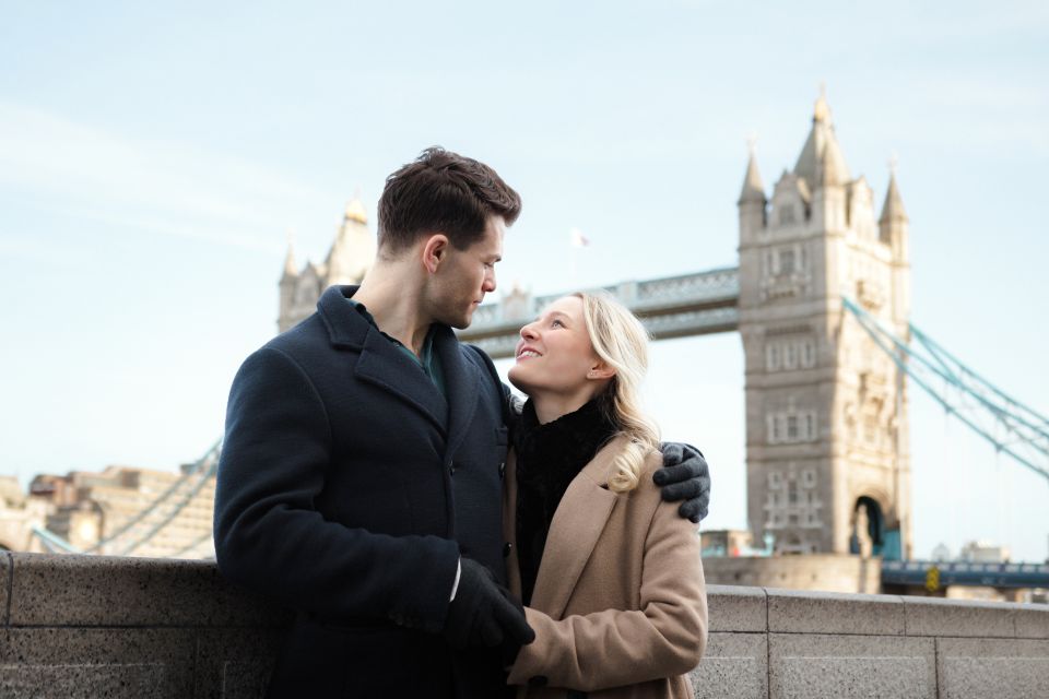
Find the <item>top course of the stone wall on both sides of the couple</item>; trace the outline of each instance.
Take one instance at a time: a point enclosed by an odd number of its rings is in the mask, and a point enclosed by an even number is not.
[[[708,585],[710,630],[1049,639],[1049,605]],[[281,627],[291,614],[213,561],[7,553],[2,625]]]

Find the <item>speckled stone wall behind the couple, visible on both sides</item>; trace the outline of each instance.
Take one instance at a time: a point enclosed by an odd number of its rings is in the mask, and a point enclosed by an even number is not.
[[[709,589],[697,697],[1047,696],[1049,606]],[[214,564],[0,556],[0,697],[262,695],[290,615]]]

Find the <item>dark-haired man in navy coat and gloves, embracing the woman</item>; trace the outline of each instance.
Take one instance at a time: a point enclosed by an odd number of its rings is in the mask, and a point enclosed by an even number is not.
[[[271,697],[496,697],[503,654],[533,638],[505,588],[508,389],[451,330],[495,291],[519,212],[486,165],[425,151],[387,179],[361,286],[329,288],[237,374],[215,553],[298,612]],[[676,487],[699,517],[692,466]]]

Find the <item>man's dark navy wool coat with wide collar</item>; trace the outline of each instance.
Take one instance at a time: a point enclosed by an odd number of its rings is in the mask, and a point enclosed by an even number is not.
[[[453,652],[439,630],[460,554],[505,583],[503,387],[440,327],[446,401],[355,291],[329,288],[234,379],[219,568],[298,612],[271,697],[498,696],[497,652]]]

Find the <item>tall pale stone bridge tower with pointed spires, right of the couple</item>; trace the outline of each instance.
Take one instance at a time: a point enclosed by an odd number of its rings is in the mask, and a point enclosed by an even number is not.
[[[747,514],[777,553],[909,557],[903,372],[841,304],[899,336],[910,315],[908,221],[892,174],[880,218],[849,174],[826,97],[793,170],[765,196],[752,151],[740,215]]]

